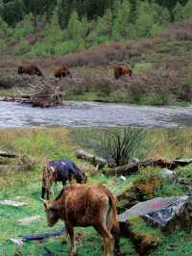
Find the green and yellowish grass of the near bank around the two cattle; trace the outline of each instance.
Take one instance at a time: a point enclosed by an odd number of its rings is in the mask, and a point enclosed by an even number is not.
[[[50,249],[56,255],[66,255],[69,250],[69,241],[60,243],[60,238],[50,238],[42,242],[28,242],[24,246],[14,245],[10,239],[17,238],[27,233],[39,233],[48,230],[57,230],[63,226],[60,221],[54,228],[48,228],[42,203],[39,201],[41,189],[41,164],[47,160],[70,158],[77,165],[84,166],[89,174],[88,183],[105,183],[108,188],[118,194],[132,186],[134,180],[142,181],[143,174],[134,174],[126,181],[115,176],[104,175],[103,171],[91,171],[93,167],[78,161],[75,150],[84,147],[91,150],[91,135],[95,136],[97,129],[30,129],[30,130],[1,130],[1,150],[9,150],[17,153],[25,153],[36,159],[36,166],[32,170],[16,170],[12,163],[6,170],[0,166],[0,199],[15,199],[27,202],[28,205],[20,208],[11,206],[0,207],[0,255],[43,255],[45,248]],[[192,157],[192,131],[190,130],[148,130],[143,139],[140,150],[141,159],[163,158],[172,160],[176,157]],[[94,143],[92,141],[92,143]],[[86,145],[88,145],[86,147]],[[94,149],[94,144],[93,149]],[[92,151],[92,150],[91,150]],[[2,161],[2,160],[1,160]],[[106,173],[107,171],[104,170]],[[156,170],[158,171],[158,170]],[[192,166],[181,168],[182,175],[191,177]],[[140,175],[140,176],[139,176]],[[57,186],[56,192],[60,192],[61,186]],[[185,190],[179,185],[164,184],[158,195],[183,194]],[[36,221],[28,226],[20,225],[20,218],[39,216]],[[144,227],[141,225],[141,229]],[[145,230],[145,229],[144,229]],[[76,228],[78,237],[79,255],[102,255],[101,239],[90,228]],[[131,241],[124,238],[120,241],[120,255],[137,255]],[[180,256],[192,254],[192,232],[176,231],[169,236],[162,235],[161,243],[151,255]]]

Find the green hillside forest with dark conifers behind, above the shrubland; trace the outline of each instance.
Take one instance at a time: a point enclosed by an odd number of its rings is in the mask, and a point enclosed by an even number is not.
[[[192,0],[0,0],[0,46],[51,56],[111,40],[151,38],[192,18]]]

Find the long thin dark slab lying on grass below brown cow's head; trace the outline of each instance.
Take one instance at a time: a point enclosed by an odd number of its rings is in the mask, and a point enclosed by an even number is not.
[[[50,237],[59,237],[64,232],[64,228],[57,231],[49,231],[41,234],[26,234],[21,236],[24,241],[43,240]]]

